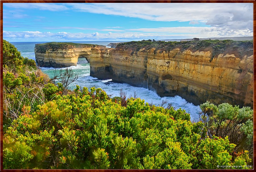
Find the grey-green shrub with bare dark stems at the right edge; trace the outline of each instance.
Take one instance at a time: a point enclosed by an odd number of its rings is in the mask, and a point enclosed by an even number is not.
[[[202,112],[200,119],[207,129],[207,135],[212,138],[225,138],[236,144],[235,150],[249,150],[253,148],[253,110],[250,107],[239,108],[228,103],[218,106],[205,102],[200,105]]]

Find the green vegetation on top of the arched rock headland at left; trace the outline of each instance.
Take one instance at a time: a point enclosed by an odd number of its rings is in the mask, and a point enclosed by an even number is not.
[[[82,43],[73,43],[73,42],[48,42],[43,44],[36,44],[36,53],[45,53],[47,49],[53,49],[53,51],[57,51],[57,49],[67,49],[67,48],[85,48],[85,47],[97,47],[104,45],[96,45],[96,44],[82,44]]]

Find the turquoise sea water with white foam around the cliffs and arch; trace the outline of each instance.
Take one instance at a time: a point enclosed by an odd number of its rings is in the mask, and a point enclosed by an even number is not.
[[[96,42],[74,42],[74,43],[89,43],[89,44],[98,44],[98,45],[108,45],[109,43],[114,43],[115,41],[96,41]],[[45,42],[11,42],[18,51],[21,52],[23,57],[28,57],[29,59],[35,60],[34,47],[37,43]],[[187,102],[185,99],[175,96],[175,97],[159,97],[155,92],[150,91],[145,88],[133,87],[126,83],[113,83],[111,79],[108,80],[99,80],[98,78],[90,76],[90,64],[86,61],[85,58],[79,58],[77,66],[71,66],[69,68],[73,69],[75,74],[78,74],[78,79],[70,85],[71,89],[74,89],[76,85],[80,87],[96,87],[102,88],[108,95],[112,97],[119,96],[119,91],[122,89],[127,92],[127,96],[133,95],[134,91],[137,92],[137,97],[144,99],[145,102],[155,104],[158,106],[161,104],[162,100],[167,100],[169,103],[172,103],[176,109],[181,108],[185,109],[187,113],[190,113],[191,121],[196,121],[199,116],[199,111],[201,109],[199,106],[195,106],[192,103]],[[64,68],[63,68],[64,69]],[[42,68],[44,73],[48,74],[49,77],[54,76],[54,68]],[[56,70],[59,70],[57,68]]]

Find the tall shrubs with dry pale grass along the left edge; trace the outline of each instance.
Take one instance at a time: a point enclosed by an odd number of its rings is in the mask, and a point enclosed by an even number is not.
[[[36,75],[34,60],[23,58],[15,46],[3,40],[3,130],[22,112],[22,107],[36,110],[44,102],[44,77]]]

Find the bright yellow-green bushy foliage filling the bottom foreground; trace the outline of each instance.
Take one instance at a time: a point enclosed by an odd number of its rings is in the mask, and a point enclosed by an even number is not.
[[[184,110],[112,101],[100,88],[24,106],[3,136],[4,169],[217,169],[246,165],[228,138],[205,136]],[[12,158],[12,159],[11,159]]]

